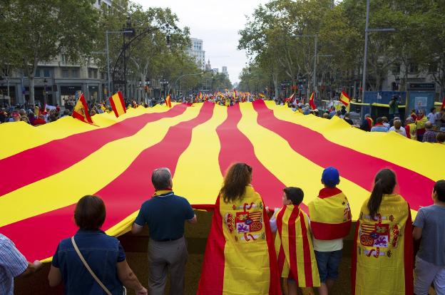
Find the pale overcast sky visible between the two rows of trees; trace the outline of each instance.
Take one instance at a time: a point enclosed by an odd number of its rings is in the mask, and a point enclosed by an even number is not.
[[[133,0],[148,7],[170,7],[178,15],[180,27],[190,28],[190,37],[203,39],[205,61],[212,68],[227,66],[232,83],[238,82],[247,62],[244,51],[238,51],[238,31],[259,4],[267,0]]]

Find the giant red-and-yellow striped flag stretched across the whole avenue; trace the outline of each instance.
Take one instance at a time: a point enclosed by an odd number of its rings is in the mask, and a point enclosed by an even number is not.
[[[272,101],[224,107],[213,103],[131,108],[94,115],[95,125],[71,117],[35,128],[0,125],[0,232],[29,261],[53,255],[76,232],[73,211],[83,195],[106,203],[103,229],[128,231],[142,202],[153,195],[151,172],[169,167],[173,190],[199,208],[215,204],[232,162],[253,167],[252,185],[265,205],[282,206],[282,189],[302,187],[306,204],[317,197],[324,167],[340,172],[339,187],[357,219],[374,175],[388,167],[413,214],[431,205],[444,177],[445,146],[396,133],[366,133],[339,118],[294,113]]]

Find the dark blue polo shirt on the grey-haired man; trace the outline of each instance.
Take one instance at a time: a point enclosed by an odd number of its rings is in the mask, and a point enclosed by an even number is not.
[[[135,224],[148,224],[151,239],[169,241],[183,237],[184,222],[193,217],[195,212],[185,197],[167,192],[145,201],[140,207]]]

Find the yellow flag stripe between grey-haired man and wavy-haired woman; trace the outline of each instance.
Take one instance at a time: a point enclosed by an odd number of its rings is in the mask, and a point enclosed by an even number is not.
[[[213,117],[193,129],[190,145],[179,157],[173,177],[174,189],[184,197],[193,197],[194,204],[208,204],[209,200],[216,199],[223,183],[218,160],[221,145],[216,128],[226,118],[227,108],[215,105]],[[198,190],[190,185],[196,180],[204,180]]]

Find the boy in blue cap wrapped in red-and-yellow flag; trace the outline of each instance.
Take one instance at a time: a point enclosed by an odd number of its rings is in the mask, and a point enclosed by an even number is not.
[[[351,209],[347,197],[337,188],[339,182],[340,175],[336,168],[324,169],[324,188],[309,203],[314,252],[321,282],[320,295],[327,295],[338,278],[343,238],[351,229]]]

